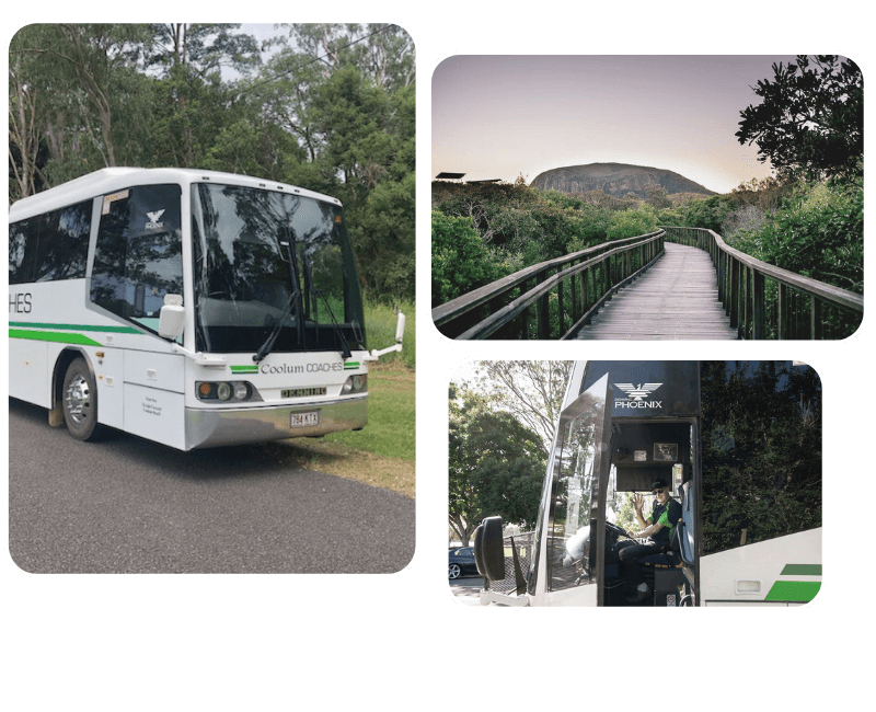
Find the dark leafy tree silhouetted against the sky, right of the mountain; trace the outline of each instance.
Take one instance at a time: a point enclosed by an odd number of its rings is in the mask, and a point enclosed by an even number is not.
[[[741,113],[736,136],[758,145],[758,160],[780,173],[823,180],[849,179],[862,171],[864,80],[850,59],[797,56],[797,64],[773,65],[773,81],[752,90],[763,102]]]

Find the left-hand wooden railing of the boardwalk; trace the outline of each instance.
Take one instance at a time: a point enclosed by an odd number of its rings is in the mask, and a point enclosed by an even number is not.
[[[662,254],[664,234],[613,240],[526,267],[436,307],[433,322],[449,338],[563,338]]]

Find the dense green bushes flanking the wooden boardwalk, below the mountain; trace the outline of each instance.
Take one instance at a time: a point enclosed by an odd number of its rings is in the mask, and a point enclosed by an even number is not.
[[[511,184],[433,183],[433,303],[525,266],[650,232],[714,230],[758,260],[863,294],[861,180],[750,181],[729,194],[613,198]]]

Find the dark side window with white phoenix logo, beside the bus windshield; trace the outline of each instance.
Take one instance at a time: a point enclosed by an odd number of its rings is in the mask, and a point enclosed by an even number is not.
[[[104,197],[91,300],[153,331],[164,295],[183,294],[180,196],[149,185]]]

